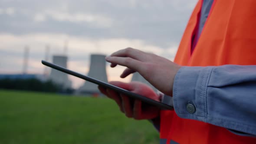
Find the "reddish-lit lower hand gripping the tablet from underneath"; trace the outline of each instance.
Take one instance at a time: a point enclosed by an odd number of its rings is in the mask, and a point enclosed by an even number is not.
[[[155,101],[160,101],[158,96],[153,89],[148,85],[141,82],[109,82],[120,88],[124,88],[130,92],[137,93],[139,95],[151,98]],[[141,119],[153,119],[159,116],[160,108],[146,104],[138,99],[131,99],[124,94],[119,94],[111,89],[98,86],[98,89],[106,95],[108,98],[112,98],[118,104],[120,110],[125,113],[128,118]]]

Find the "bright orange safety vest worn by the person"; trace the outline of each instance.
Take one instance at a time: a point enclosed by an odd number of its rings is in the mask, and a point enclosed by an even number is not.
[[[214,0],[200,38],[191,54],[191,37],[199,22],[202,0],[185,29],[174,62],[188,66],[256,65],[256,0]],[[256,144],[202,121],[183,119],[162,110],[161,144]]]

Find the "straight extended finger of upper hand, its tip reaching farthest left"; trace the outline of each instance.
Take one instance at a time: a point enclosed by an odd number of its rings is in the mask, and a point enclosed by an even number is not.
[[[109,56],[109,57],[106,57],[106,61],[111,63],[116,63],[118,65],[126,66],[129,69],[133,69],[137,72],[139,72],[143,68],[142,62],[136,59],[132,59],[130,57]]]

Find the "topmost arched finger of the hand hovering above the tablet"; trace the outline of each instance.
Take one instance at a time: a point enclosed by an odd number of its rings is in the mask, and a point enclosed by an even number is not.
[[[131,57],[133,59],[141,60],[141,55],[144,52],[133,49],[133,48],[126,48],[118,50],[117,52],[112,53],[110,56],[118,56],[118,57]]]

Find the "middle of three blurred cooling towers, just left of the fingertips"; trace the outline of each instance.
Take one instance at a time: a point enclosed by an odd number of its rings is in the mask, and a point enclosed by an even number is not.
[[[98,79],[103,82],[108,82],[107,73],[106,73],[106,61],[104,55],[92,54],[90,62],[90,70],[87,74],[88,76]],[[98,85],[92,82],[85,82],[78,89],[78,94],[99,94]]]

